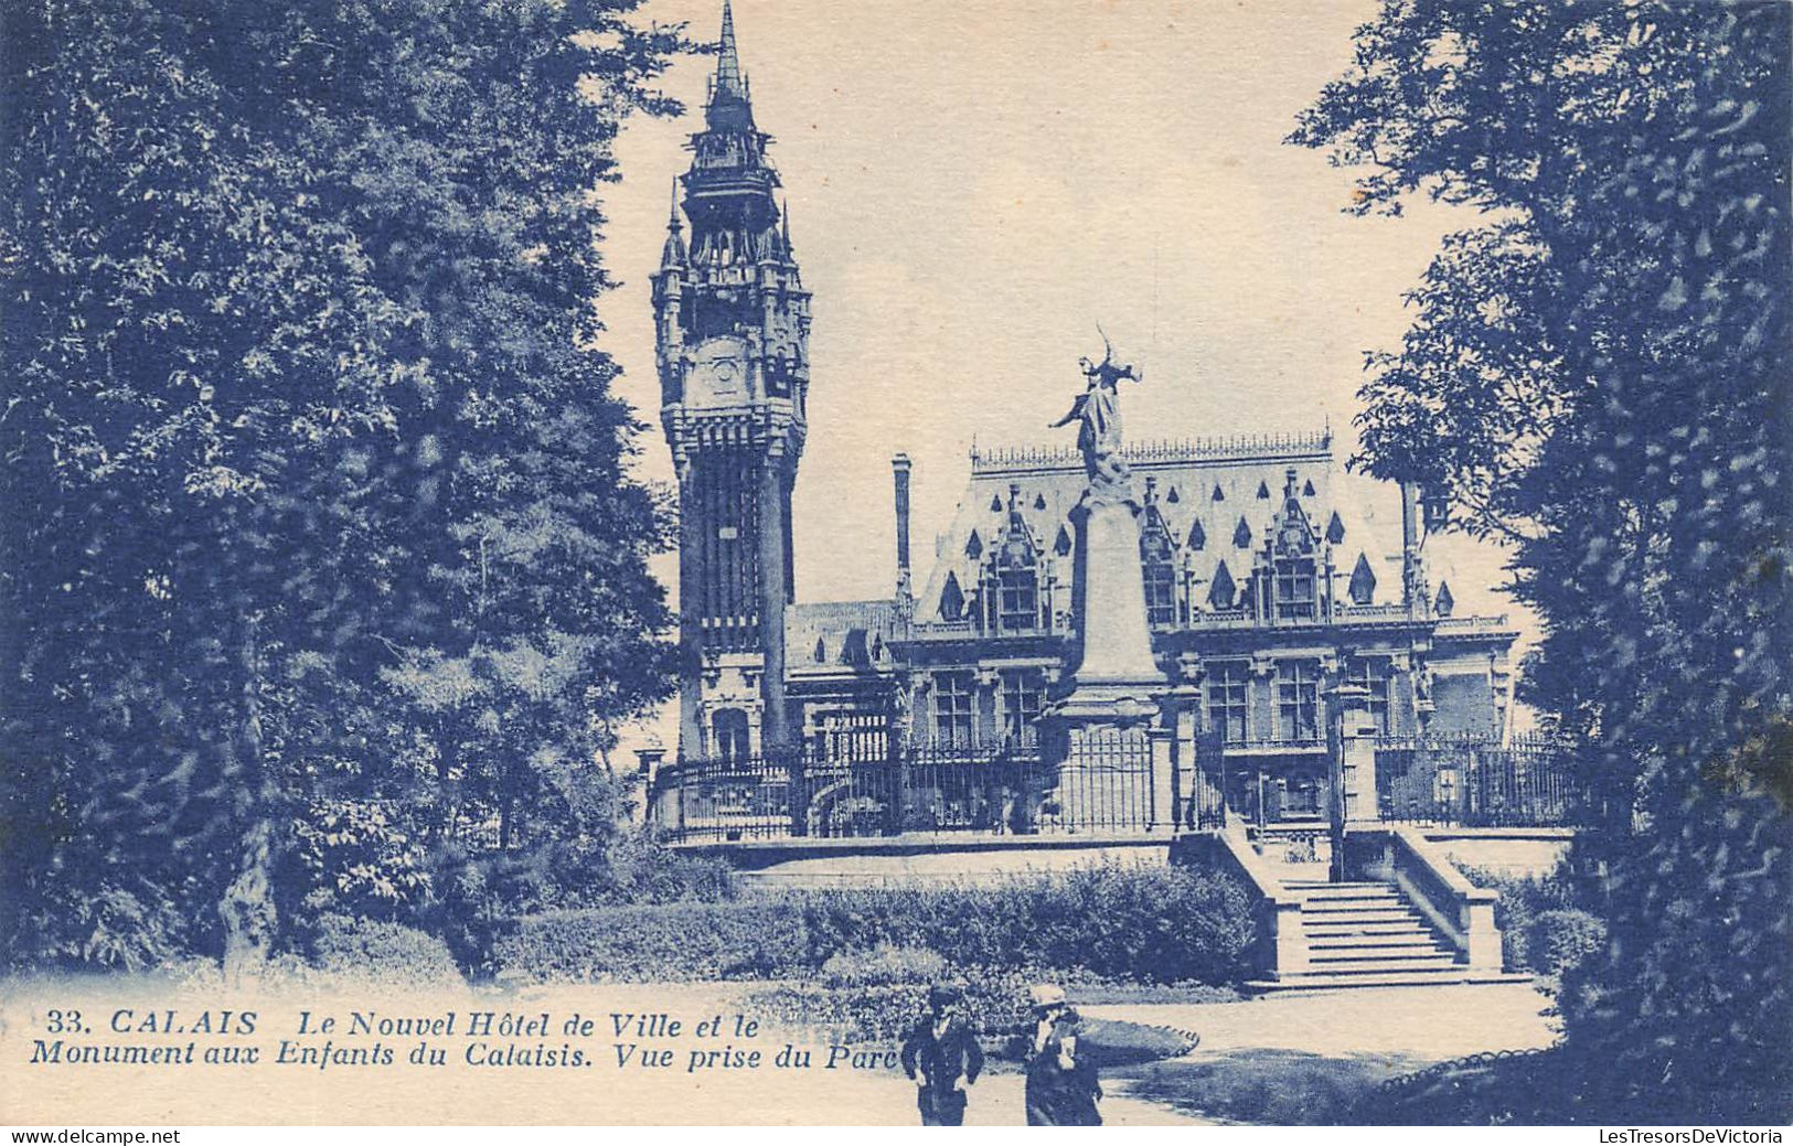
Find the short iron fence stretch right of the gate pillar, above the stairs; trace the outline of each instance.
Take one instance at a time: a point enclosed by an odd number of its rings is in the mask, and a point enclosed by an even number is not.
[[[1381,741],[1375,793],[1395,823],[1581,827],[1590,816],[1574,757],[1542,737]]]

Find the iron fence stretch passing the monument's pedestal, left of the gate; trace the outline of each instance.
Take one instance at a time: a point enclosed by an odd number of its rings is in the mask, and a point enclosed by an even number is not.
[[[1110,832],[1151,827],[1151,748],[1140,735],[1085,746],[1058,764],[1031,744],[678,760],[654,777],[651,807],[665,838],[689,843]]]

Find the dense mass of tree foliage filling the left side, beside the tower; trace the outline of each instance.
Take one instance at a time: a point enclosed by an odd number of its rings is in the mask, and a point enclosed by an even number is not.
[[[689,47],[633,7],[5,9],[13,958],[253,959],[489,891],[481,832],[601,845],[669,628],[595,344],[611,140]]]

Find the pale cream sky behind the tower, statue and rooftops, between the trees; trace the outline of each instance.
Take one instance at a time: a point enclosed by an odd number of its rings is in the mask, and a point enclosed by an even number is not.
[[[1282,143],[1350,59],[1372,0],[735,0],[753,111],[773,135],[814,292],[809,445],[793,504],[800,601],[888,597],[889,457],[914,459],[918,576],[952,518],[972,443],[1069,445],[1047,430],[1101,357],[1096,323],[1146,371],[1130,438],[1330,425],[1356,445],[1366,350],[1395,348],[1402,294],[1458,208],[1341,208],[1352,176]],[[714,39],[721,0],[649,0],[644,20]],[[671,179],[689,165],[712,57],[637,118],[604,188],[602,301],[619,393],[658,427],[649,274]],[[1517,613],[1499,552],[1447,540],[1461,612]],[[671,581],[671,561],[660,565]],[[1436,579],[1436,577],[1434,577]],[[1517,619],[1517,617],[1515,617]],[[1529,626],[1528,626],[1529,628]]]

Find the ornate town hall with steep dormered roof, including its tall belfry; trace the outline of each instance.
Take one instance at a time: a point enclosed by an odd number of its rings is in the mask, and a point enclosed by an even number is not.
[[[742,780],[681,814],[821,832],[866,816],[1011,825],[1029,802],[1022,773],[977,777],[1038,753],[1061,683],[1078,452],[974,450],[927,552],[911,545],[898,454],[891,595],[800,601],[791,491],[810,432],[810,294],[726,4],[703,117],[653,276],[680,488],[680,742],[665,771]],[[1458,610],[1416,490],[1345,475],[1325,430],[1128,443],[1124,457],[1165,712],[1225,753],[1235,807],[1323,814],[1323,698],[1339,683],[1363,689],[1379,737],[1506,735],[1517,631]],[[1031,800],[1035,821],[1056,805]]]

